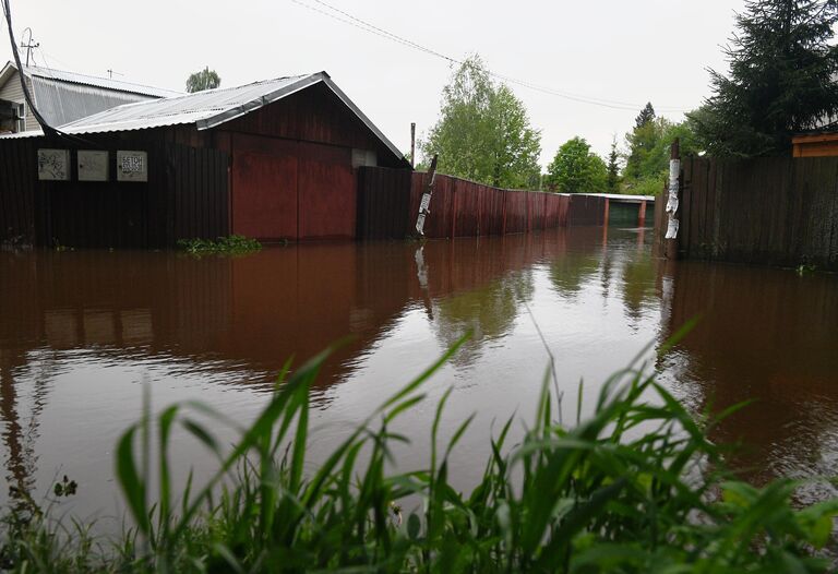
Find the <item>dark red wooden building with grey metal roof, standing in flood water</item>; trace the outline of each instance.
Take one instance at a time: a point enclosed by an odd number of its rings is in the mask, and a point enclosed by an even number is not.
[[[352,239],[361,166],[410,168],[325,72],[124,104],[0,136],[0,240]]]

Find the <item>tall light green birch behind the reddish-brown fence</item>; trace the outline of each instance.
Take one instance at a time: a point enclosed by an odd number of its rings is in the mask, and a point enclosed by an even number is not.
[[[441,172],[481,183],[523,188],[539,179],[541,134],[530,127],[524,104],[492,82],[478,56],[464,61],[443,88],[440,119],[420,148],[426,160],[439,155]]]

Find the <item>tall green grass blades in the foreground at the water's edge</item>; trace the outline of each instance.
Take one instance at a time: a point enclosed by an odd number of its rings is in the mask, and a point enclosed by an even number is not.
[[[707,439],[718,418],[696,421],[639,368],[606,382],[592,415],[582,420],[577,406],[571,426],[558,422],[559,398],[546,376],[523,439],[510,443],[512,418],[487,438],[492,454],[468,492],[451,486],[450,456],[471,418],[450,441],[438,440],[448,391],[428,429],[424,468],[390,471],[393,446],[409,442],[392,430],[394,421],[427,399],[424,383],[457,347],[383,400],[308,474],[309,395],[327,352],[292,373],[286,368],[270,403],[228,449],[190,415],[232,424],[210,407],[146,412],[116,452],[134,528],[108,546],[84,525],[68,528],[49,513],[16,510],[5,519],[0,565],[13,572],[829,570],[819,553],[833,543],[838,501],[801,510],[790,503],[794,481],[757,489],[733,480]],[[172,485],[168,446],[176,429],[218,458],[206,482]],[[152,435],[156,461],[148,454]],[[148,495],[153,485],[156,501]]]

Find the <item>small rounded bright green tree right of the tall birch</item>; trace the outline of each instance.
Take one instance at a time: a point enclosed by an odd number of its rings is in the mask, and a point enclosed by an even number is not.
[[[584,137],[567,140],[547,168],[548,184],[562,193],[603,193],[608,167]]]

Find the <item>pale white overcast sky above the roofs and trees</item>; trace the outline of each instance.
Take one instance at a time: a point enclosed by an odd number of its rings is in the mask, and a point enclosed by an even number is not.
[[[541,130],[542,164],[580,135],[606,155],[622,144],[639,108],[683,119],[709,93],[707,68],[727,71],[720,51],[742,0],[565,2],[325,0],[379,28],[454,59],[479,53],[495,73],[550,91],[627,104],[630,109],[511,87]],[[318,0],[11,0],[17,41],[40,43],[38,64],[183,89],[204,65],[222,86],[327,71],[400,148],[410,122],[435,121],[451,63],[360,29]],[[307,4],[311,8],[307,8]],[[321,12],[316,12],[316,9]],[[3,33],[7,34],[5,26]],[[0,58],[12,59],[5,38]]]

